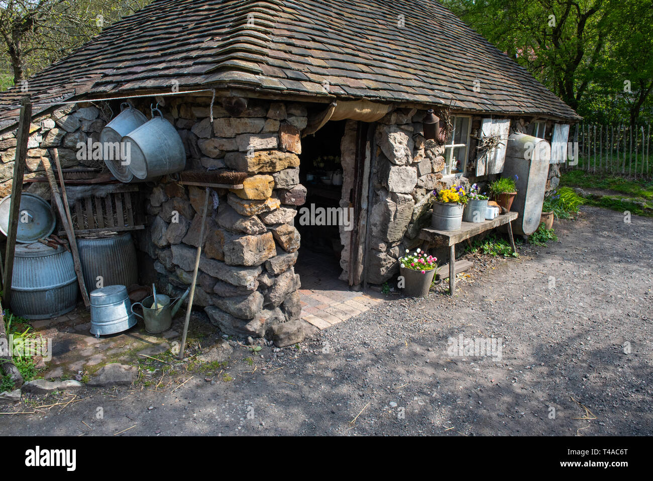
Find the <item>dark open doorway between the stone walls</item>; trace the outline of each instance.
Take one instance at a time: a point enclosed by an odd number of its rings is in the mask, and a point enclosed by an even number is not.
[[[347,288],[346,282],[338,280],[343,245],[336,222],[340,221],[336,216],[342,199],[340,144],[345,122],[328,122],[302,139],[300,182],[307,193],[295,222],[302,239],[295,271],[304,289]]]

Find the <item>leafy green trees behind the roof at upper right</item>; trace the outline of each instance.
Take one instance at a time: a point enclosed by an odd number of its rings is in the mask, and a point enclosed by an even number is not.
[[[653,120],[650,0],[442,0],[588,122]]]

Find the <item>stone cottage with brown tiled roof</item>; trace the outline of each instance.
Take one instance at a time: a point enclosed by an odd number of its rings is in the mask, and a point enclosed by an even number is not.
[[[502,172],[505,142],[488,152],[486,139],[565,143],[579,120],[445,7],[416,0],[155,0],[0,94],[3,197],[25,96],[25,178],[42,176],[52,148],[63,167],[102,169],[78,146],[99,141],[124,101],[148,117],[158,105],[185,169],[247,173],[242,188],[212,190],[204,239],[204,188],[170,176],[137,184],[149,199],[137,237],[142,282],[155,276],[173,294],[192,282],[201,243],[195,305],[223,332],[257,337],[300,316],[306,242],[334,252],[351,288],[381,284],[421,242],[432,190]],[[564,160],[551,159],[547,188]],[[347,209],[351,225],[302,226],[305,204]]]

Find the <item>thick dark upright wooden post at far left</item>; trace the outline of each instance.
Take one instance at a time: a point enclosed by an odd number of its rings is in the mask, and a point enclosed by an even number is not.
[[[20,218],[20,197],[23,191],[23,176],[25,174],[25,159],[27,158],[27,141],[29,140],[29,124],[32,120],[32,104],[25,97],[21,101],[20,120],[18,120],[18,137],[16,161],[14,162],[14,177],[11,186],[9,207],[9,225],[7,231],[7,252],[5,254],[5,302],[9,307],[11,302],[11,282],[14,276],[14,255],[16,254],[16,235],[18,234],[18,218]]]

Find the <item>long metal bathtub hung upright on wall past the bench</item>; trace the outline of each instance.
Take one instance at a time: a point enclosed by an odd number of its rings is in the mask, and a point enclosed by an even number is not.
[[[550,159],[549,142],[524,133],[513,133],[508,138],[502,176],[515,178],[517,184],[517,197],[511,207],[519,213],[512,223],[515,234],[531,235],[539,227]]]

